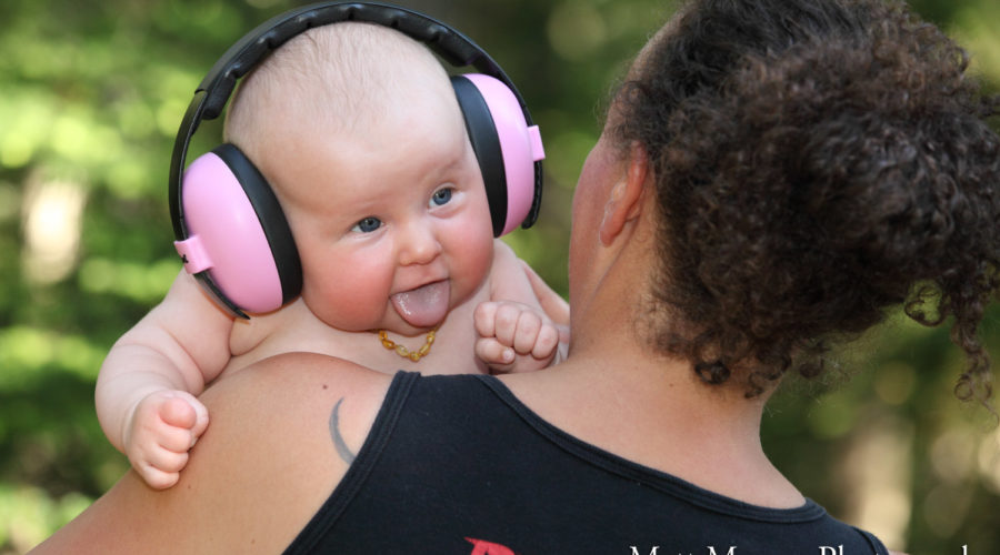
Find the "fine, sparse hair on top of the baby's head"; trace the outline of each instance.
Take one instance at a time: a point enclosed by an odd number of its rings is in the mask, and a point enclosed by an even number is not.
[[[408,95],[416,91],[441,99],[452,94],[444,69],[427,48],[372,23],[319,27],[289,40],[241,82],[226,139],[262,165],[279,141],[276,131],[357,140],[371,130],[371,137],[373,125],[414,108]]]

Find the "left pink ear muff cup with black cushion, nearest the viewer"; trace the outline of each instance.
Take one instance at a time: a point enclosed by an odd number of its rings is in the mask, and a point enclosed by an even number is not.
[[[270,312],[294,299],[302,266],[274,192],[234,145],[222,144],[184,173],[188,271],[237,314]],[[224,292],[224,294],[221,294]]]

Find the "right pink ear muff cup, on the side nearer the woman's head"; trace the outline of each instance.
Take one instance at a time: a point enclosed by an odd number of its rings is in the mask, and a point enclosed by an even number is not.
[[[481,73],[451,78],[466,130],[486,184],[493,236],[513,231],[536,202],[536,162],[544,158],[538,127],[529,125],[517,97]]]

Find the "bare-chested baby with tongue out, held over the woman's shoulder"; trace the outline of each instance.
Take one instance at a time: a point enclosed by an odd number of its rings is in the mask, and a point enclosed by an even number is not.
[[[182,272],[114,344],[98,417],[150,486],[172,486],[204,432],[196,395],[271,355],[426,373],[552,362],[559,330],[532,289],[544,286],[493,239],[454,92],[422,44],[369,23],[307,31],[247,77],[226,135],[274,189],[301,295],[234,320]]]

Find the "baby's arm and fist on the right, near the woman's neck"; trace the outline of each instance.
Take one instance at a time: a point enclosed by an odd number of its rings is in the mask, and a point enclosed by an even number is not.
[[[496,372],[559,362],[569,342],[569,305],[501,241],[494,242],[490,301],[476,307],[476,354]]]

